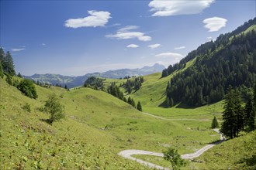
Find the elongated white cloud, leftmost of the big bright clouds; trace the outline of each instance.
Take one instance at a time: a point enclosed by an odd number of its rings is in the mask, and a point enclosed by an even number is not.
[[[88,11],[90,14],[85,18],[79,19],[67,19],[65,22],[66,27],[73,29],[79,27],[96,27],[96,26],[105,26],[109,19],[111,18],[109,12],[104,11]]]

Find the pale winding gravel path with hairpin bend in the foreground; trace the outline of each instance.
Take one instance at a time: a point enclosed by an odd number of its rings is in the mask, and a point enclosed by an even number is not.
[[[213,146],[218,145],[218,144],[222,143],[225,140],[225,138],[223,137],[223,134],[220,133],[219,129],[213,129],[213,131],[216,131],[218,134],[220,134],[220,141],[217,141],[217,142],[215,142],[213,144],[210,144],[210,145],[206,145],[205,147],[200,148],[198,151],[195,151],[192,154],[182,155],[182,158],[192,159],[192,158],[199,157],[200,155],[202,155],[203,152],[207,151],[209,148],[213,148]],[[155,165],[153,163],[145,162],[141,159],[132,157],[132,155],[153,155],[153,156],[164,157],[164,154],[162,154],[162,153],[157,153],[157,152],[153,152],[153,151],[143,151],[143,150],[133,150],[133,149],[131,149],[131,150],[120,151],[118,155],[123,156],[123,158],[129,158],[133,161],[139,162],[140,164],[146,165],[150,168],[168,169],[168,168],[164,168],[160,165]]]

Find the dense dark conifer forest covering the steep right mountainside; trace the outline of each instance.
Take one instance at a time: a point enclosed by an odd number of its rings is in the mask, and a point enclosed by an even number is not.
[[[254,22],[256,18],[245,25],[251,26]],[[244,30],[245,27],[241,28],[243,29],[239,30]],[[215,42],[199,46],[181,60],[178,64],[180,66],[175,69],[174,66],[169,66],[172,73],[181,69],[185,61],[196,57],[194,65],[171,78],[166,90],[169,100],[172,98],[174,103],[202,106],[223,100],[229,85],[253,87],[256,82],[256,32],[252,30],[237,36],[234,36],[234,32],[219,36]],[[230,38],[231,36],[234,37]],[[165,75],[166,70],[163,72]]]

